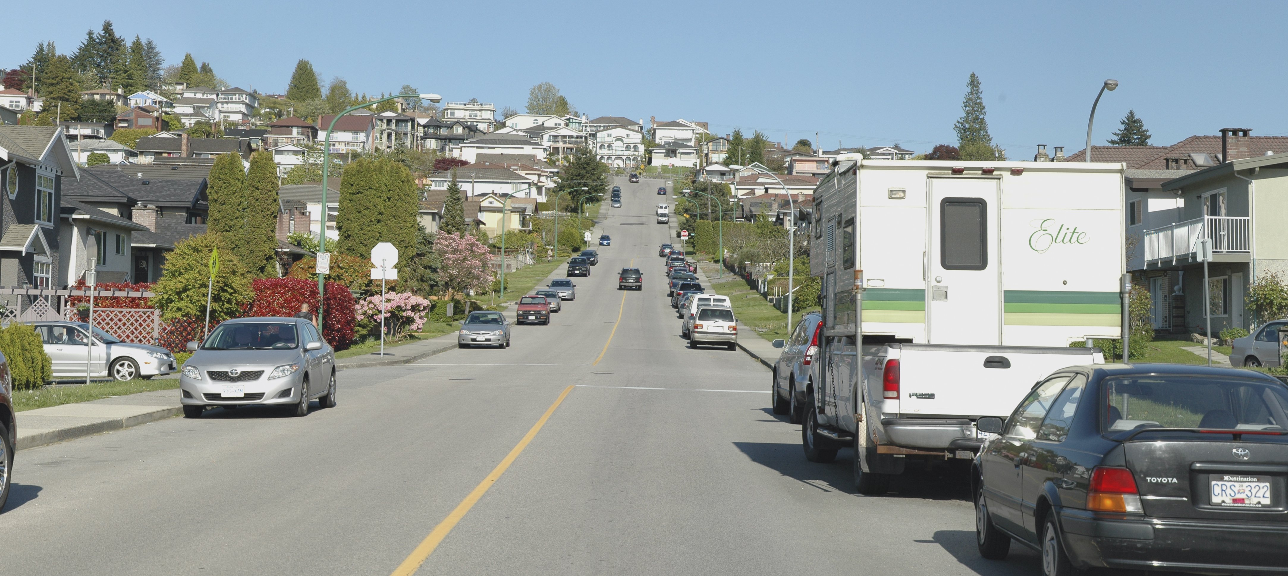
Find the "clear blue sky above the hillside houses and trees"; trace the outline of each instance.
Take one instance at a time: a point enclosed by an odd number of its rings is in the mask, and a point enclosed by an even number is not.
[[[1032,158],[1038,143],[1081,149],[1091,102],[1110,77],[1122,85],[1101,99],[1096,143],[1128,108],[1155,144],[1221,128],[1288,134],[1288,75],[1275,63],[1288,3],[1279,1],[223,0],[207,8],[158,14],[93,1],[50,12],[15,3],[5,8],[0,66],[26,62],[43,40],[71,53],[86,28],[111,18],[117,34],[151,36],[167,63],[191,52],[229,82],[265,93],[285,91],[299,58],[323,81],[341,76],[358,91],[411,84],[498,110],[522,111],[528,89],[550,81],[592,117],[684,117],[788,143],[817,130],[826,148],[954,143],[972,71],[993,140],[1012,158]]]

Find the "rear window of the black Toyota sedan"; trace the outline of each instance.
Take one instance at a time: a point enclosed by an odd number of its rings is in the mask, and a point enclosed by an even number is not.
[[[1137,428],[1288,430],[1288,388],[1243,378],[1142,375],[1101,385],[1103,433]]]

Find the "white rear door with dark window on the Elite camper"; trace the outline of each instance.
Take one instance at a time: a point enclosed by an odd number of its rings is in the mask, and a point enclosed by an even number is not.
[[[926,341],[1001,344],[998,180],[931,178]]]

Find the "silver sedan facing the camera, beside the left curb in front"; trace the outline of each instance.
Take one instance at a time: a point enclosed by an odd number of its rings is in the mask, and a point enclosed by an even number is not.
[[[184,418],[211,406],[277,405],[295,416],[335,406],[335,350],[313,322],[300,318],[233,318],[219,323],[179,372]]]

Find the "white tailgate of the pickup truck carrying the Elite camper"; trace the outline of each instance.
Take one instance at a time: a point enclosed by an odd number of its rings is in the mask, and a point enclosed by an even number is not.
[[[1075,365],[1104,363],[1099,349],[899,345],[899,414],[1006,418],[1051,372]]]

